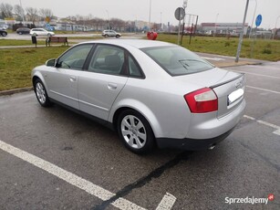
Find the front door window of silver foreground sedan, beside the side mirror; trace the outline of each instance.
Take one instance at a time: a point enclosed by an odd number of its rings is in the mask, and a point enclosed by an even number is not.
[[[69,49],[58,59],[57,68],[82,69],[92,45],[80,45]]]

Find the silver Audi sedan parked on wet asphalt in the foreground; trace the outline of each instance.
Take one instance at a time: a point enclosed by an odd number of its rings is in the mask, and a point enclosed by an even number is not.
[[[77,110],[135,153],[213,148],[244,115],[244,74],[160,41],[80,43],[34,68],[32,80],[41,106]]]

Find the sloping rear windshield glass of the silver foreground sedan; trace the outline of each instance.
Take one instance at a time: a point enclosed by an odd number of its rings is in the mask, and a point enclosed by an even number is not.
[[[146,47],[141,50],[171,76],[193,74],[214,68],[212,64],[184,47]]]

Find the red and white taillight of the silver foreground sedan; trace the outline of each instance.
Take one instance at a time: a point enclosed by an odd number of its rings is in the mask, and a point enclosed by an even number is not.
[[[192,113],[205,113],[218,110],[218,98],[213,89],[204,88],[184,95]]]

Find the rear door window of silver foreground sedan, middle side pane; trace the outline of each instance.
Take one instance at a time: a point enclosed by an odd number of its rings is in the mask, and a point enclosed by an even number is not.
[[[121,75],[124,64],[124,50],[109,45],[99,45],[88,66],[88,71],[102,74]]]

